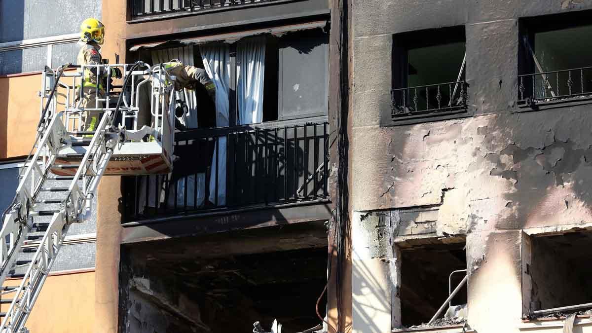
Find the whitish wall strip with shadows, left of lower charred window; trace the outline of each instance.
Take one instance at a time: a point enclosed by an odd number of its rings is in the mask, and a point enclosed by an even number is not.
[[[390,332],[391,247],[375,214],[355,212],[352,219],[352,332]],[[382,229],[382,230],[381,230]],[[396,274],[395,274],[395,279]],[[396,301],[395,301],[396,303]],[[398,303],[400,307],[400,302]],[[400,315],[398,315],[400,318]]]

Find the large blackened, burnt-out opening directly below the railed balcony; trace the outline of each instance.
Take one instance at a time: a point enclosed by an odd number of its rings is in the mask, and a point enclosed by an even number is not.
[[[143,242],[122,249],[121,332],[284,332],[321,324],[323,223]],[[326,314],[326,295],[318,312]]]

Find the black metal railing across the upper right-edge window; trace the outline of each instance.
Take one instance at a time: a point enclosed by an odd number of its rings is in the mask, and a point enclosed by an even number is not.
[[[592,97],[592,67],[518,76],[518,103],[536,103]]]

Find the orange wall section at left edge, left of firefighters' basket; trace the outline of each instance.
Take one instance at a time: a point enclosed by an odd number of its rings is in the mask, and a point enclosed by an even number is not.
[[[39,120],[41,74],[0,78],[0,159],[27,155]]]

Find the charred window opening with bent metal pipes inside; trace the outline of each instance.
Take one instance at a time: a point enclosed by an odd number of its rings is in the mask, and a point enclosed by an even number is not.
[[[401,324],[405,328],[454,325],[465,321],[464,246],[462,242],[401,249]],[[458,293],[446,302],[459,284]],[[430,323],[443,305],[442,313]]]

